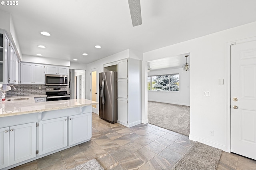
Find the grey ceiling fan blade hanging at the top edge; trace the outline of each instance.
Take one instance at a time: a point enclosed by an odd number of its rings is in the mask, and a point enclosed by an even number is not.
[[[140,0],[128,0],[132,26],[139,26],[142,24],[141,20],[141,10],[140,10]]]

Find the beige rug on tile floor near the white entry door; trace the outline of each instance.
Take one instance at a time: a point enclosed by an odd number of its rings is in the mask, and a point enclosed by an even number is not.
[[[171,170],[216,170],[222,150],[195,142]]]

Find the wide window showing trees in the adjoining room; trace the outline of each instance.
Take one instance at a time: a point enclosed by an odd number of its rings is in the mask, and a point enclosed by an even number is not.
[[[148,76],[148,90],[179,91],[179,74]]]

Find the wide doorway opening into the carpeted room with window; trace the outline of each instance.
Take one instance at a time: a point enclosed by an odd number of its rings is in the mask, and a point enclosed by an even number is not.
[[[189,63],[190,53],[148,61],[146,76],[148,123],[188,136],[190,71],[182,67],[186,55]]]

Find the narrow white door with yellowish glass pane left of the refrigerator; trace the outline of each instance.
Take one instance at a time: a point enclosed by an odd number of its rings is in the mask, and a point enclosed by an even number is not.
[[[99,102],[98,95],[98,68],[90,69],[91,83],[90,83],[90,94],[91,100]],[[92,105],[92,112],[99,114],[99,105]]]

